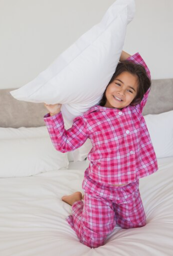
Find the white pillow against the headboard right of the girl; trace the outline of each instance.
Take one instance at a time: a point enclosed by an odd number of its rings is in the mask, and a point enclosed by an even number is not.
[[[173,156],[173,110],[144,116],[157,158]]]

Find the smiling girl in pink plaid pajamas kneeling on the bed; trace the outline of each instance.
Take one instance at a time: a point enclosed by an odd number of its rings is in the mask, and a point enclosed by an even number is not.
[[[100,103],[76,117],[69,130],[64,129],[61,104],[45,104],[50,113],[44,121],[57,150],[77,149],[87,138],[92,142],[82,183],[84,201],[81,192],[62,197],[72,205],[69,225],[91,248],[103,245],[116,224],[122,228],[146,224],[139,178],[158,170],[142,116],[150,85],[150,71],[140,54],[122,51]]]

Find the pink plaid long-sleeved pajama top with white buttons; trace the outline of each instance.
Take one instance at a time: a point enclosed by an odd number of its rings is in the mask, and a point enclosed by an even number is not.
[[[127,60],[144,65],[140,54]],[[150,89],[137,106],[118,108],[95,105],[76,117],[69,130],[64,129],[62,113],[44,116],[54,147],[69,152],[83,145],[87,138],[92,142],[88,154],[87,175],[103,184],[122,185],[148,176],[158,170],[156,154],[142,115]]]

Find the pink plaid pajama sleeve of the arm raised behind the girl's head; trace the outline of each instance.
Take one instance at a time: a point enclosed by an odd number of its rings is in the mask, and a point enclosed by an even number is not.
[[[145,68],[145,71],[147,73],[147,76],[149,77],[149,79],[151,79],[150,70],[148,69],[146,63],[144,62],[143,58],[141,57],[141,55],[139,53],[136,53],[136,54],[130,56],[127,60],[131,60],[136,64],[143,65]],[[143,108],[148,100],[148,95],[149,95],[150,89],[151,89],[151,87],[147,90],[147,92],[144,94],[142,101],[138,104],[141,112],[143,111]]]

